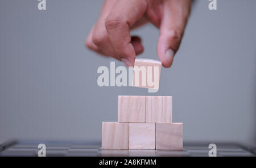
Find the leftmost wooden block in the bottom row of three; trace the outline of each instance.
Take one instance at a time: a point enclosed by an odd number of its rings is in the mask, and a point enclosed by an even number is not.
[[[129,123],[102,123],[102,149],[128,149]]]

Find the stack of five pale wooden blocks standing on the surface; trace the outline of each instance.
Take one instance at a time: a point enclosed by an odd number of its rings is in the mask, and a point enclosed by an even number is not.
[[[183,150],[172,96],[118,96],[118,123],[102,123],[102,149]]]

